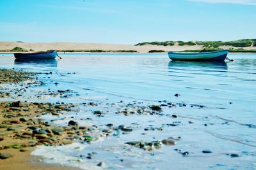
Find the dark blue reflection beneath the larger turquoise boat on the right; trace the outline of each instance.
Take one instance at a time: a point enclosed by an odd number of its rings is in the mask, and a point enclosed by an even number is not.
[[[182,68],[193,68],[193,69],[223,69],[227,70],[228,66],[225,61],[222,62],[195,62],[195,61],[178,61],[171,60],[168,63],[169,68],[182,69]]]

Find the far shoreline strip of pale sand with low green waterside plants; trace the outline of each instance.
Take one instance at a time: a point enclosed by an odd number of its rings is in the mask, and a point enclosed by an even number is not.
[[[117,45],[107,43],[24,43],[0,41],[0,53],[42,52],[57,50],[67,53],[166,53],[166,52],[200,52],[201,50],[228,49],[230,52],[256,53],[256,46],[205,46],[205,45]]]

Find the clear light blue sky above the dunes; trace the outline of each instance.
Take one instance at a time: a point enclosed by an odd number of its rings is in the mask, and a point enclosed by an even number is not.
[[[0,0],[0,41],[256,38],[256,0]]]

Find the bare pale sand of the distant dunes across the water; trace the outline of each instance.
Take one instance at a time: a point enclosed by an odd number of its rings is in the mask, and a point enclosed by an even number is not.
[[[148,53],[150,50],[163,50],[168,51],[184,51],[184,50],[202,50],[204,46],[161,46],[161,45],[118,45],[118,44],[107,44],[107,43],[20,43],[20,42],[10,42],[10,41],[0,41],[0,52],[4,50],[12,50],[15,47],[23,48],[24,50],[31,51],[47,51],[47,50],[136,50],[139,53]],[[223,49],[239,47],[234,46],[220,46]],[[256,46],[244,47],[244,50],[256,50]]]

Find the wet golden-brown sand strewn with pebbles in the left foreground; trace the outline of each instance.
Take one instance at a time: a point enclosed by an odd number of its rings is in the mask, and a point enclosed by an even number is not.
[[[34,76],[35,73],[0,69],[1,84],[35,80]],[[8,96],[9,94],[5,94],[1,97]],[[69,110],[67,105],[57,106],[58,109],[55,110],[49,110],[45,106],[47,104],[20,103],[19,101],[0,103],[0,169],[17,169],[17,167],[20,169],[72,169],[55,164],[44,164],[40,157],[30,155],[35,150],[36,145],[60,145],[60,143],[67,144],[71,142],[69,139],[63,139],[67,138],[67,134],[63,134],[64,131],[61,132],[61,136],[58,135],[58,138],[52,138],[52,141],[45,138],[48,136],[33,133],[31,129],[34,129],[34,131],[38,129],[39,131],[43,127],[47,127],[51,131],[51,128],[58,128],[48,124],[44,125],[40,120],[40,115],[47,112],[58,114],[57,111]],[[48,133],[48,135],[54,136],[54,133],[51,133]]]

